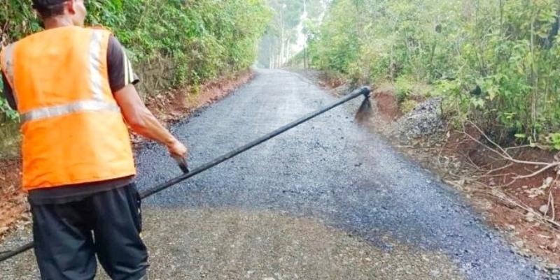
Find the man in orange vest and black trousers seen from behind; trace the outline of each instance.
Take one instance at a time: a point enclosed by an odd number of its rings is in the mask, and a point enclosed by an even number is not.
[[[3,93],[20,113],[41,279],[94,279],[96,255],[111,279],[146,279],[125,121],[176,159],[187,148],[146,109],[118,40],[83,27],[83,0],[33,4],[45,30],[3,48],[0,62]]]

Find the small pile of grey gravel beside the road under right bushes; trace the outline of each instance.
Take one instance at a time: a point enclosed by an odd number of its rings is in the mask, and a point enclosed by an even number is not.
[[[441,117],[441,97],[424,101],[393,124],[392,133],[407,140],[432,135],[444,128]]]

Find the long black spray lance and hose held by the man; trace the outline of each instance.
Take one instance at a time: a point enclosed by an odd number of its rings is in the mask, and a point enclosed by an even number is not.
[[[281,128],[276,129],[275,131],[272,131],[271,133],[268,133],[267,135],[264,135],[256,140],[253,140],[252,142],[247,143],[246,145],[239,147],[235,150],[233,150],[232,152],[229,152],[228,154],[224,154],[223,156],[218,157],[217,159],[214,159],[214,161],[210,161],[209,163],[205,163],[204,165],[195,168],[194,170],[191,170],[188,173],[185,173],[181,176],[175,177],[173,179],[170,179],[169,181],[159,184],[157,186],[154,186],[151,189],[148,189],[146,191],[142,191],[140,193],[140,197],[142,199],[147,198],[148,196],[152,196],[155,193],[159,193],[160,191],[163,191],[167,188],[169,188],[170,186],[174,186],[175,184],[179,184],[180,182],[183,182],[184,180],[193,177],[195,175],[197,175],[200,172],[203,172],[205,170],[208,170],[210,168],[213,168],[214,166],[222,163],[223,161],[227,161],[228,159],[231,159],[234,156],[237,156],[238,154],[241,154],[242,152],[247,151],[248,149],[251,149],[252,147],[255,147],[256,145],[260,145],[263,142],[274,138],[275,136],[284,133],[288,130],[290,130],[291,128],[294,128],[295,126],[298,126],[302,123],[304,123],[305,121],[309,121],[309,119],[312,119],[314,117],[317,117],[318,115],[323,114],[324,112],[327,112],[328,110],[331,110],[332,108],[338,107],[339,105],[342,105],[348,101],[351,101],[353,98],[356,98],[360,95],[365,96],[366,100],[369,101],[369,96],[370,96],[370,92],[371,89],[370,87],[362,87],[361,89],[356,89],[355,91],[352,91],[351,94],[344,96],[344,98],[342,98],[341,100],[337,101],[336,103],[333,103],[332,105],[323,108],[321,110],[317,110],[316,112],[313,112],[305,117],[301,117],[300,119],[297,119],[295,121],[292,121],[290,124],[286,124],[286,126],[282,126]],[[362,106],[360,106],[362,107]],[[8,253],[3,253],[0,256],[0,262],[3,262],[4,260],[8,260],[9,258],[12,258],[13,256],[17,256],[20,253],[23,253],[29,249],[33,248],[33,242],[29,242],[23,246],[20,246],[18,249],[12,250],[12,251],[8,251]]]

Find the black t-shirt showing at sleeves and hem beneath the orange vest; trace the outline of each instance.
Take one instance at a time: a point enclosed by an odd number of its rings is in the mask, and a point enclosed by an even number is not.
[[[109,74],[109,85],[113,94],[123,89],[128,84],[136,84],[139,82],[137,75],[132,70],[132,64],[127,58],[125,48],[120,45],[117,38],[111,36],[109,38],[109,46],[107,50],[107,70]],[[8,84],[8,80],[2,73],[3,80],[3,96],[13,110],[18,110],[13,91]],[[36,189],[29,191],[29,202],[34,205],[43,204],[59,204],[81,200],[93,193],[100,191],[109,191],[111,189],[120,188],[132,183],[133,177],[123,177],[111,179],[101,182],[91,182],[86,184],[73,184],[68,186],[59,186],[56,188]]]

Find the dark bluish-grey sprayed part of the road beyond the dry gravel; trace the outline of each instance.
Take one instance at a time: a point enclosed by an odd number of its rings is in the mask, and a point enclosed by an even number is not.
[[[335,102],[283,71],[259,71],[243,88],[175,128],[197,166]],[[472,213],[460,194],[436,182],[353,121],[360,100],[335,108],[234,159],[154,196],[147,205],[235,207],[312,217],[391,250],[388,235],[442,252],[469,279],[540,279]],[[141,186],[177,175],[165,150],[139,156]]]

